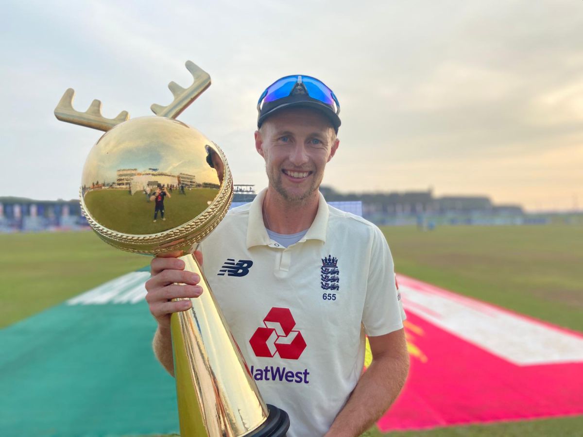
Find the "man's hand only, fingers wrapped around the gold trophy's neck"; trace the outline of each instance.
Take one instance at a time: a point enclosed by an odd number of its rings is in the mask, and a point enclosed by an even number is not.
[[[202,293],[197,285],[201,278],[184,271],[184,261],[177,259],[181,255],[181,252],[161,253],[150,263],[152,277],[146,281],[146,301],[161,330],[170,329],[173,312],[187,311],[192,306],[190,301],[172,302],[171,299],[195,298]],[[196,251],[194,255],[202,265],[202,253]]]

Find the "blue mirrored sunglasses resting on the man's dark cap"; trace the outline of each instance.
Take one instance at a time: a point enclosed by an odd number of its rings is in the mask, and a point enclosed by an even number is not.
[[[336,114],[340,113],[340,104],[331,89],[329,89],[321,80],[311,76],[292,75],[282,77],[269,85],[257,102],[257,109],[261,110],[264,103],[269,103],[283,97],[288,97],[296,84],[303,84],[308,96],[315,100],[321,101],[326,105],[331,105]]]

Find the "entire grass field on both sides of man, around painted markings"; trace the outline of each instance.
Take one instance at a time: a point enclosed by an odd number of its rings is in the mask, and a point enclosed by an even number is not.
[[[440,227],[428,232],[387,227],[383,231],[397,272],[583,331],[583,227]],[[92,232],[0,235],[0,246],[0,326],[149,263],[145,256],[111,248]],[[382,434],[371,429],[365,435]],[[583,436],[583,417],[389,435]]]

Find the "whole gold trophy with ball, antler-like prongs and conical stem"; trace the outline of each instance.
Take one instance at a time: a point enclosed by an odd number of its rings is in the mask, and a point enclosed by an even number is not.
[[[55,116],[105,133],[83,168],[80,203],[97,235],[128,252],[182,251],[185,270],[201,277],[203,294],[171,318],[174,375],[182,436],[275,437],[289,428],[285,411],[265,404],[194,256],[194,244],[227,213],[233,180],[223,151],[175,118],[210,86],[210,76],[190,61],[194,83],[170,82],[174,101],[152,105],[156,116],[113,119],[93,100],[73,110],[68,89]]]

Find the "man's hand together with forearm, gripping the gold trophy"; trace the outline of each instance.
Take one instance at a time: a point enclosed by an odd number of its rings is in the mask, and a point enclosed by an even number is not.
[[[172,339],[170,334],[170,316],[173,312],[187,311],[191,301],[176,301],[171,299],[184,297],[199,297],[202,288],[198,286],[201,280],[198,274],[184,271],[184,261],[177,259],[182,252],[168,252],[158,255],[150,263],[152,277],[146,281],[146,301],[150,312],[158,322],[154,334],[153,348],[156,358],[174,376],[174,358],[172,356]],[[202,265],[202,253],[194,252],[194,256]]]

